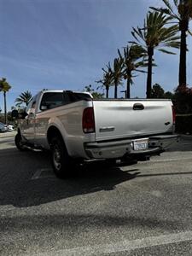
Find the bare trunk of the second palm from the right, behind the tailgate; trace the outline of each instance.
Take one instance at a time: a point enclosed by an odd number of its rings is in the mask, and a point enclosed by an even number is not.
[[[154,48],[148,47],[148,79],[147,79],[147,99],[151,98],[151,87],[152,87],[152,61],[154,55]]]

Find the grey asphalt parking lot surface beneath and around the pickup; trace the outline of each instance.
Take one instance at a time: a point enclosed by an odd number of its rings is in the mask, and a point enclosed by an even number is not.
[[[134,165],[59,180],[0,134],[0,255],[192,255],[192,137]]]

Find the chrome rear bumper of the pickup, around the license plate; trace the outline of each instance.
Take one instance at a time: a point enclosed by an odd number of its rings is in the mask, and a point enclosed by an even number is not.
[[[90,159],[118,159],[125,156],[150,156],[160,154],[169,148],[172,143],[177,143],[177,135],[162,135],[148,137],[148,148],[134,150],[132,139],[105,143],[85,143],[84,149]]]

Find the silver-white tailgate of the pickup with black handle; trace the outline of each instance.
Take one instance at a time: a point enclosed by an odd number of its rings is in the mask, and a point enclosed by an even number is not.
[[[93,101],[96,141],[172,132],[170,100]]]

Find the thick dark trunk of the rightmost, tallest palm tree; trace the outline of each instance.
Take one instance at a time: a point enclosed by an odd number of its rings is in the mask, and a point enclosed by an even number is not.
[[[181,30],[181,46],[180,46],[180,58],[179,58],[179,74],[178,74],[178,85],[186,86],[186,32],[188,30],[189,20],[180,20],[179,28]]]

